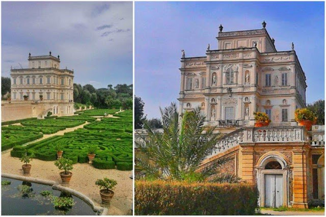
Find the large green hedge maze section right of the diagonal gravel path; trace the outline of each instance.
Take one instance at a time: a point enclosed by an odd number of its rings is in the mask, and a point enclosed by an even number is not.
[[[96,111],[93,114],[96,114]],[[103,118],[101,121],[84,125],[84,128],[66,132],[64,135],[55,135],[25,147],[15,146],[11,151],[11,156],[20,157],[22,153],[27,151],[34,153],[35,157],[41,160],[56,160],[57,151],[55,147],[61,144],[64,147],[63,157],[71,159],[74,164],[77,162],[84,163],[88,162],[89,145],[97,145],[98,149],[93,160],[95,168],[132,170],[132,111],[122,112],[119,115],[121,116],[119,118]],[[66,118],[68,117],[46,121],[57,120],[58,123],[82,121],[85,123],[85,120]],[[42,124],[51,125],[52,123],[44,122]]]

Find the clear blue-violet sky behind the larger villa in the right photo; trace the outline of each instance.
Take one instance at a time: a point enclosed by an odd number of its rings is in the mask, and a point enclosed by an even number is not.
[[[307,102],[324,98],[323,2],[135,2],[135,94],[148,118],[178,102],[181,50],[186,57],[217,49],[224,32],[261,29],[265,20],[278,51],[296,54],[307,77]]]

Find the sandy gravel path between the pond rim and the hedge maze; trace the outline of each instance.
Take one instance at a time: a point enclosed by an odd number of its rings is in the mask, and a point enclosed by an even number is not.
[[[23,175],[21,169],[22,162],[16,157],[11,157],[10,152],[2,154],[2,172],[16,175]],[[54,164],[54,161],[43,161],[33,159],[31,177],[45,180],[57,181],[61,183],[59,173],[61,172]],[[108,208],[108,215],[131,215],[132,204],[132,179],[129,178],[131,171],[119,170],[100,170],[90,164],[73,165],[73,173],[68,187],[85,194],[97,206]],[[114,189],[115,195],[111,205],[107,206],[101,203],[99,188],[95,181],[100,178],[112,178],[117,180],[118,184]]]

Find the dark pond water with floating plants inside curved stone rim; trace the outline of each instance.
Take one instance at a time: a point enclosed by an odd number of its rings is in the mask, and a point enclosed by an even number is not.
[[[52,189],[49,185],[2,177],[2,181],[5,180],[11,181],[11,184],[1,185],[1,215],[96,215],[82,199]],[[22,193],[17,188],[19,185],[30,186],[29,193]],[[56,209],[50,197],[42,196],[41,191],[50,191],[57,197],[72,197],[75,204],[67,210]]]

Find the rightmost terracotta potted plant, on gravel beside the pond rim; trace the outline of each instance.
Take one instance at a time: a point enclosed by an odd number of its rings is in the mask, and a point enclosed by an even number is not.
[[[100,187],[102,203],[109,204],[114,196],[114,192],[112,190],[117,185],[117,181],[105,177],[103,179],[97,179],[95,184]]]

